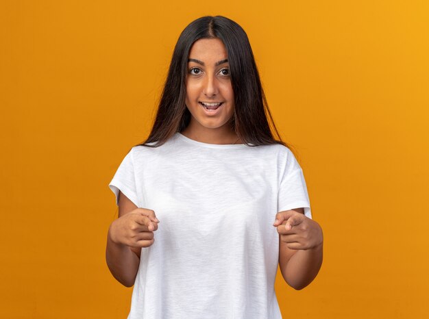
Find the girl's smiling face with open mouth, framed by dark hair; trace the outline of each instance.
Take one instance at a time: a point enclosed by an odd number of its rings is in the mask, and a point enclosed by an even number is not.
[[[219,38],[200,39],[191,47],[185,103],[192,115],[188,129],[194,134],[231,135],[227,123],[234,114],[234,92],[225,45]]]

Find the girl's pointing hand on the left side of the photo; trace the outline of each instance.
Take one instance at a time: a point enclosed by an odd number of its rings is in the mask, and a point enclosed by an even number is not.
[[[158,218],[151,209],[136,208],[112,222],[109,236],[112,242],[134,248],[154,244],[154,231],[158,229]]]

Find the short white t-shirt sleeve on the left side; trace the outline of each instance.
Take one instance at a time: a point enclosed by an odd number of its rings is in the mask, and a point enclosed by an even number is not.
[[[114,192],[117,205],[119,205],[119,190],[130,199],[138,207],[138,196],[136,188],[136,178],[134,173],[134,162],[131,150],[125,155],[117,172],[114,174],[112,181],[109,183],[109,188]]]

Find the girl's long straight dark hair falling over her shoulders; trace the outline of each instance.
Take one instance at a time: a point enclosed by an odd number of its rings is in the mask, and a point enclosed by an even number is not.
[[[197,18],[182,31],[175,44],[154,125],[147,140],[138,145],[161,146],[188,126],[191,120],[191,113],[185,105],[188,56],[193,43],[204,38],[219,38],[225,45],[235,104],[230,125],[237,136],[248,146],[277,143],[291,149],[282,141],[275,127],[247,34],[240,25],[225,16]],[[278,140],[273,138],[267,117]],[[156,143],[147,144],[151,142]]]

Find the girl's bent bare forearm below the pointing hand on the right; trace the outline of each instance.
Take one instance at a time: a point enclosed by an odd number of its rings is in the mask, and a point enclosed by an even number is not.
[[[298,250],[281,269],[286,283],[296,290],[309,285],[317,276],[323,259],[323,244],[307,250]]]

